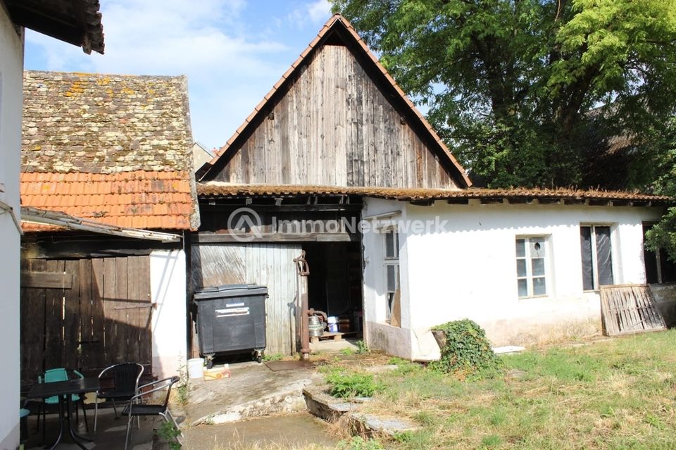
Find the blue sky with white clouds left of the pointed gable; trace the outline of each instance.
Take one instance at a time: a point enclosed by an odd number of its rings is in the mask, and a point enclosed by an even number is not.
[[[293,61],[275,62],[287,46],[247,33],[239,20],[245,6],[243,0],[101,2],[104,56],[33,32],[26,39],[44,54],[46,70],[188,75],[193,135],[220,146]]]

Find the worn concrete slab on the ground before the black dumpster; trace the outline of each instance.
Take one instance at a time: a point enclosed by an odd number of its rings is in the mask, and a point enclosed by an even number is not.
[[[231,376],[191,380],[185,407],[191,425],[228,423],[242,418],[303,411],[303,387],[321,380],[314,369],[274,372],[263,364],[230,364]]]

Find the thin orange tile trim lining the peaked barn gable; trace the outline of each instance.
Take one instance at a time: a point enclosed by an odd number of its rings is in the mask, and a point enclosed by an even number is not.
[[[219,149],[218,154],[216,154],[216,156],[214,156],[211,159],[211,161],[209,161],[208,163],[204,163],[204,165],[202,165],[202,167],[199,170],[197,170],[197,177],[199,178],[199,180],[203,180],[204,176],[209,173],[211,168],[213,168],[213,166],[218,162],[218,160],[221,157],[225,156],[225,154],[227,154],[227,151],[230,149],[230,146],[235,141],[235,139],[237,139],[237,137],[239,137],[239,135],[241,135],[242,132],[244,132],[246,127],[248,127],[251,124],[253,118],[256,117],[256,114],[258,114],[263,108],[263,106],[267,104],[267,102],[273,96],[273,94],[277,92],[277,89],[279,89],[280,87],[282,87],[282,85],[284,85],[284,82],[286,82],[286,80],[290,76],[292,76],[292,74],[296,71],[299,65],[303,63],[308,54],[311,53],[311,51],[315,48],[315,46],[321,41],[321,39],[326,35],[326,33],[329,30],[331,30],[332,27],[334,27],[336,23],[342,23],[342,25],[344,25],[344,27],[350,33],[353,39],[355,39],[355,42],[359,46],[361,46],[361,49],[363,49],[363,51],[365,51],[366,56],[368,56],[368,58],[370,58],[370,60],[373,61],[375,67],[378,70],[380,70],[380,72],[384,75],[387,81],[392,85],[396,93],[399,94],[399,96],[401,97],[401,99],[403,99],[404,102],[406,102],[406,105],[409,108],[411,108],[411,111],[415,113],[415,116],[418,118],[418,120],[420,120],[420,123],[423,125],[423,127],[425,127],[425,130],[427,130],[427,132],[430,133],[430,136],[432,137],[434,142],[437,142],[439,147],[442,149],[444,155],[446,155],[451,165],[453,165],[458,170],[458,173],[462,177],[462,180],[465,182],[466,187],[472,186],[472,181],[470,180],[470,177],[468,177],[467,172],[465,171],[463,166],[460,165],[460,163],[458,163],[458,160],[456,160],[455,156],[451,154],[451,151],[446,146],[446,144],[444,144],[439,135],[437,135],[437,132],[434,131],[432,125],[430,125],[430,123],[427,122],[427,119],[425,119],[425,116],[422,113],[420,113],[420,111],[418,111],[418,108],[415,108],[415,105],[410,99],[408,99],[406,93],[404,93],[401,87],[399,87],[399,85],[396,84],[394,78],[392,78],[392,76],[389,75],[387,69],[384,68],[384,66],[380,63],[380,61],[378,61],[378,58],[376,58],[376,56],[370,51],[370,49],[368,49],[368,46],[366,45],[365,42],[363,42],[363,39],[361,39],[356,30],[354,30],[354,27],[352,26],[351,23],[349,23],[349,20],[347,20],[340,14],[334,14],[329,20],[327,20],[327,22],[324,24],[324,26],[317,34],[315,39],[313,39],[312,42],[310,42],[310,44],[306,47],[306,49],[301,52],[301,55],[299,56],[298,59],[296,59],[296,61],[294,61],[294,63],[291,65],[291,68],[289,68],[289,70],[287,70],[284,73],[284,75],[282,75],[280,80],[277,81],[275,85],[273,85],[273,89],[270,89],[270,92],[268,92],[268,94],[265,95],[261,103],[259,103],[255,108],[253,108],[253,112],[249,115],[249,117],[247,117],[244,120],[242,126],[240,126],[233,133],[230,139],[227,139],[225,145]]]

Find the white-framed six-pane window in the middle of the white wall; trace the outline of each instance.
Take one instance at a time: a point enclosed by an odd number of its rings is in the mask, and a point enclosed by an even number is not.
[[[516,280],[519,298],[547,294],[545,238],[516,238]]]

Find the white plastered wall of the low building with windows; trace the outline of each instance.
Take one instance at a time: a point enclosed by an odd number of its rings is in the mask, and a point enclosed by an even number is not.
[[[481,205],[476,201],[413,206],[374,199],[366,201],[365,211],[402,206],[401,219],[406,223],[447,221],[430,232],[400,227],[400,264],[406,273],[402,311],[408,311],[402,327],[411,334],[411,358],[420,360],[438,358],[438,346],[427,330],[448,320],[475,320],[495,345],[599,332],[599,296],[582,291],[580,223],[611,225],[615,283],[642,283],[641,223],[661,214],[658,208]],[[527,235],[549,237],[546,297],[518,299],[515,238]],[[365,258],[378,260],[382,251],[378,243],[375,235],[365,235]],[[382,261],[367,265],[364,272],[365,308],[376,323],[382,321],[379,311],[384,311],[379,291],[384,271],[379,265]],[[382,348],[394,353],[390,346]]]

